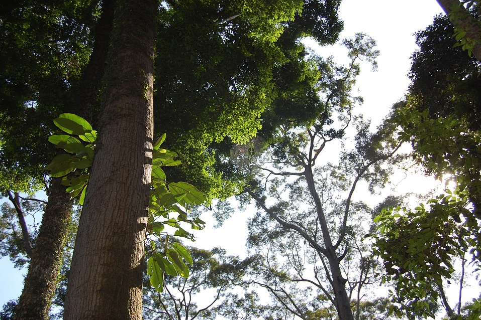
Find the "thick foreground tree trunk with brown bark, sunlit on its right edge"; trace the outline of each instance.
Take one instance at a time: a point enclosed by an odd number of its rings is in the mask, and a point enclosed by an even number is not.
[[[153,138],[157,3],[116,3],[102,127],[80,216],[64,319],[141,319]]]

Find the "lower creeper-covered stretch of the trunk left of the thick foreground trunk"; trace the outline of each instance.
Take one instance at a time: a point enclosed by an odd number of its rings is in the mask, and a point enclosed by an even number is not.
[[[65,187],[61,179],[53,179],[15,319],[48,319],[71,216],[72,202]]]

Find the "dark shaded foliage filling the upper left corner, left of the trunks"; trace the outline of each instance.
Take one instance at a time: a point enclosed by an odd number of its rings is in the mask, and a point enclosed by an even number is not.
[[[97,2],[9,2],[0,12],[0,185],[28,190],[54,148],[51,120],[71,105],[70,89],[91,48]]]

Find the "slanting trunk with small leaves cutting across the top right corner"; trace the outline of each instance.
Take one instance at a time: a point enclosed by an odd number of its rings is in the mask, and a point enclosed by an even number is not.
[[[454,25],[454,28],[461,28],[467,32],[465,37],[471,38],[475,41],[481,41],[481,30],[479,29],[478,22],[469,13],[469,11],[461,5],[459,0],[436,0],[443,9],[446,15],[452,12],[452,8],[459,8],[461,17],[449,20]],[[472,53],[476,57],[477,61],[481,62],[481,45],[476,43],[472,48]]]

